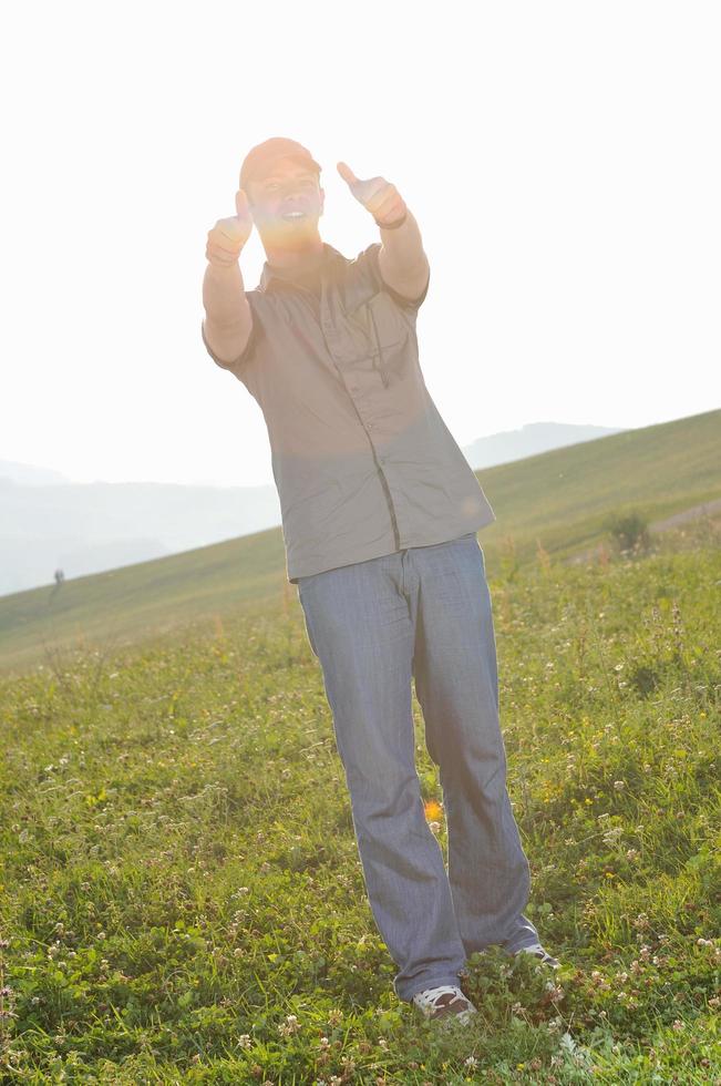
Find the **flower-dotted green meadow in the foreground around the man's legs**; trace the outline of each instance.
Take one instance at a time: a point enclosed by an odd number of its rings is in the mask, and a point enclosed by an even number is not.
[[[2,1080],[720,1082],[704,540],[490,578],[528,913],[564,965],[474,955],[477,1021],[447,1034],[393,993],[297,602],[238,594],[215,624],[0,679]]]

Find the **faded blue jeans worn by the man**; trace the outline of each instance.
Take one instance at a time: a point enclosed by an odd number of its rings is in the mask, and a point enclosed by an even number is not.
[[[538,942],[498,720],[491,596],[475,532],[298,581],[350,793],[369,903],[411,1001],[466,956]],[[449,868],[415,768],[411,679],[445,810]]]

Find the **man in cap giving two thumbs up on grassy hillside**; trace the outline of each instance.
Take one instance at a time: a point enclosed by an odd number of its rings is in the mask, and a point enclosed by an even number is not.
[[[237,215],[208,232],[203,340],[266,419],[288,577],[394,990],[429,1017],[466,1022],[476,1008],[459,981],[474,951],[558,964],[522,912],[528,863],[476,539],[495,515],[423,381],[415,317],[430,270],[415,218],[394,185],[339,162],[381,238],[350,260],[320,237],[320,171],[285,137],[248,153]],[[254,225],[267,260],[246,291],[238,257]],[[415,770],[412,679],[440,766],[447,874]]]

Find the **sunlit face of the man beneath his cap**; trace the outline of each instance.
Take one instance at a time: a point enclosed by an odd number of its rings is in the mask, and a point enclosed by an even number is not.
[[[265,177],[248,182],[246,195],[259,232],[288,239],[317,233],[326,194],[315,170],[280,158]]]

